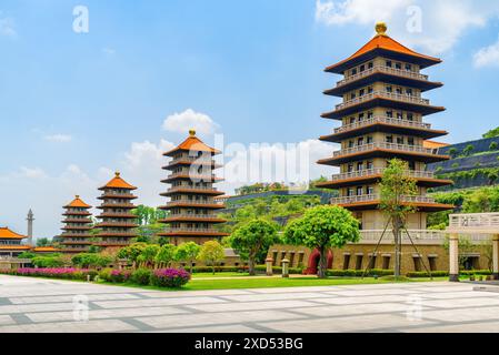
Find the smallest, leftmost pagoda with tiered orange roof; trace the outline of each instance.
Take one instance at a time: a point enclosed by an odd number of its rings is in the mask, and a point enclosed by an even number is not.
[[[92,242],[92,220],[90,209],[92,206],[84,203],[79,195],[76,196],[68,205],[63,206],[66,212],[62,214],[64,220],[62,239],[64,253],[84,253],[88,252]]]

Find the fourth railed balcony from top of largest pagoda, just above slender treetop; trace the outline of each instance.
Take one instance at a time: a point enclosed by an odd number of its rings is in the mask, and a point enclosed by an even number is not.
[[[360,159],[399,156],[425,163],[449,160],[448,155],[440,155],[438,150],[428,149],[422,145],[406,145],[397,143],[377,142],[361,144],[353,148],[333,152],[332,158],[320,160],[319,164],[339,165]]]

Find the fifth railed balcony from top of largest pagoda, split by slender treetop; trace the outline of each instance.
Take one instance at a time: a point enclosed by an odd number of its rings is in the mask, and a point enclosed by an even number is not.
[[[347,172],[332,175],[332,179],[328,182],[319,183],[318,186],[323,189],[339,189],[346,186],[353,186],[359,183],[371,183],[379,181],[385,172],[386,168],[366,169],[353,172]],[[417,180],[418,185],[427,187],[446,186],[452,184],[451,180],[440,180],[429,171],[408,170],[405,172],[405,176]]]

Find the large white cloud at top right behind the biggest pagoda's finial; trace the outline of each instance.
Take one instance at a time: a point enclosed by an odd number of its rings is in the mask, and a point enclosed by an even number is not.
[[[452,50],[467,31],[485,27],[498,14],[497,1],[317,0],[316,3],[316,20],[320,23],[373,26],[386,21],[395,39],[433,55]],[[420,26],[415,27],[415,21]]]

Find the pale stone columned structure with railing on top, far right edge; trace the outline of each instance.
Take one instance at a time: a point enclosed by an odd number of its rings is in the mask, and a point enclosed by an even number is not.
[[[459,235],[472,242],[492,240],[492,275],[499,280],[499,213],[451,214],[449,227],[449,277],[459,281]]]

